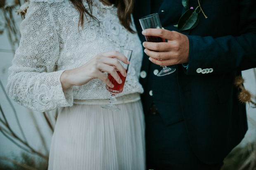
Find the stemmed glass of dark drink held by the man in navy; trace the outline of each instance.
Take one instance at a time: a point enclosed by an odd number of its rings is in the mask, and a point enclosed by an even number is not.
[[[148,28],[162,28],[158,13],[144,16],[139,19],[142,30]],[[147,42],[165,42],[165,39],[155,36],[145,36]],[[176,69],[162,66],[163,69],[156,76],[165,76],[173,73]]]

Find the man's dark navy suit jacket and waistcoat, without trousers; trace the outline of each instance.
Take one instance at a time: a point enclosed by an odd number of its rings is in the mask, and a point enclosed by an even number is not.
[[[192,30],[182,31],[189,39],[189,65],[176,67],[173,76],[146,76],[140,78],[145,89],[142,102],[147,112],[152,101],[166,125],[180,119],[172,113],[173,90],[178,92],[177,104],[187,126],[190,143],[197,157],[205,163],[217,163],[244,138],[247,131],[245,106],[237,99],[238,89],[234,78],[242,70],[256,67],[256,0],[199,0],[204,13]],[[189,7],[198,6],[197,0],[189,0]],[[139,18],[151,14],[150,0],[136,0],[133,17],[142,42]],[[164,0],[159,8],[162,26],[177,30],[179,17],[185,12],[181,0]],[[152,67],[148,56],[143,57],[142,70],[149,73]],[[208,74],[197,69],[213,69]],[[160,69],[159,69],[160,70]],[[171,79],[171,80],[170,80]],[[168,87],[175,80],[178,88]],[[148,86],[153,91],[152,99]],[[179,100],[179,101],[178,101]],[[164,104],[163,104],[164,103]],[[174,119],[173,119],[174,117]],[[171,132],[170,132],[171,133]]]

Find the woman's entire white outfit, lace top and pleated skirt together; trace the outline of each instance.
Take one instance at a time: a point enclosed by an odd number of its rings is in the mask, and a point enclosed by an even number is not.
[[[84,2],[85,8],[88,4]],[[59,109],[50,148],[49,170],[145,170],[144,116],[139,83],[142,46],[119,22],[116,7],[92,4],[99,23],[85,19],[69,0],[31,0],[20,25],[6,91],[37,111]],[[132,28],[135,30],[134,24]],[[116,106],[105,110],[110,93],[99,79],[62,90],[60,76],[112,46],[133,50],[128,76]]]

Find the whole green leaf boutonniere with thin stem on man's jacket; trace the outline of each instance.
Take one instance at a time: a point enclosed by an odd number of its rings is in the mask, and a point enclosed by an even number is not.
[[[188,0],[182,0],[182,5],[187,9],[187,11],[180,17],[180,20],[177,25],[174,25],[175,27],[178,27],[179,31],[185,31],[185,30],[191,30],[197,26],[199,23],[199,13],[202,11],[204,14],[203,9],[201,8],[201,5],[198,0],[198,7],[194,9],[191,7],[189,9],[188,7]],[[199,12],[197,13],[197,9],[200,8]],[[205,18],[207,16],[204,14]]]

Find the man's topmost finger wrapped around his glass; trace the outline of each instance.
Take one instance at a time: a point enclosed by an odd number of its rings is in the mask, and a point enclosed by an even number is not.
[[[161,37],[164,39],[173,40],[175,33],[169,30],[164,30],[161,28],[150,28],[142,31],[142,34],[145,36],[155,36],[155,37]]]

